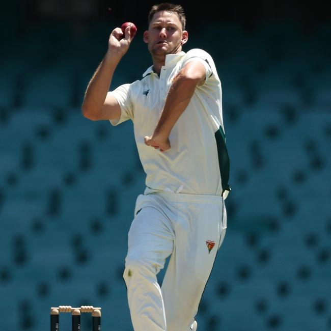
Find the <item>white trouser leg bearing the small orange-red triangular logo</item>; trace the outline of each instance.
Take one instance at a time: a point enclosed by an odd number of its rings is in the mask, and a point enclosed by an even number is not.
[[[162,283],[169,331],[189,329],[225,234],[222,203],[185,209],[175,226],[175,250]]]

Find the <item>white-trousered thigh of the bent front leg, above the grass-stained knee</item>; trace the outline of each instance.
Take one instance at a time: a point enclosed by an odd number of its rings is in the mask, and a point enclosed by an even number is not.
[[[163,268],[167,257],[173,252],[174,231],[161,208],[142,207],[133,219],[128,234],[126,263],[139,261],[156,269]]]

